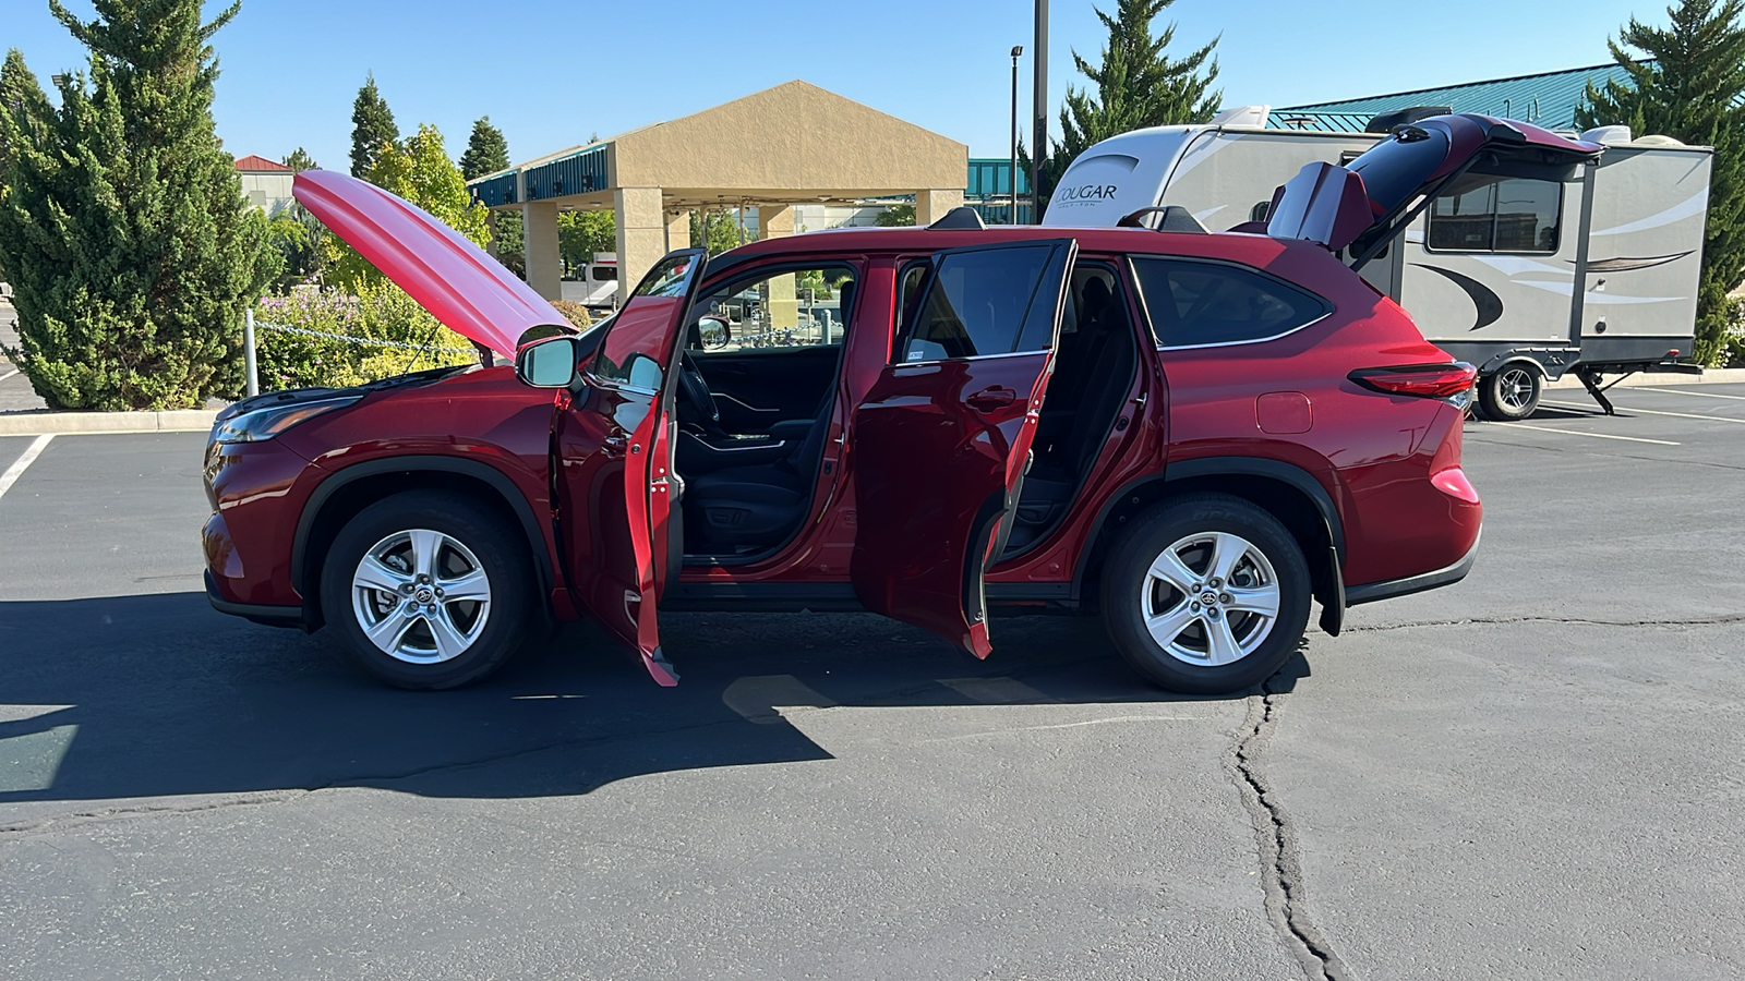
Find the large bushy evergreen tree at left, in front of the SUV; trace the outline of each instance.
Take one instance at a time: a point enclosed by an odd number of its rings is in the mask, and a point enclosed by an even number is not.
[[[180,408],[243,388],[243,311],[277,269],[213,131],[208,44],[237,12],[201,0],[94,0],[91,51],[54,108],[9,59],[0,98],[0,265],[9,353],[51,408]]]

